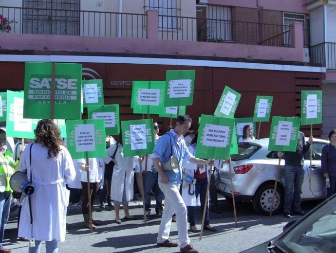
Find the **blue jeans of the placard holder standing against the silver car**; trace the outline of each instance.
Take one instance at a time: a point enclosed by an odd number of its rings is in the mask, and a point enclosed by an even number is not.
[[[303,165],[285,165],[285,196],[283,203],[283,212],[290,213],[293,203],[293,211],[300,212],[302,183],[304,178]],[[294,189],[293,189],[294,188]]]

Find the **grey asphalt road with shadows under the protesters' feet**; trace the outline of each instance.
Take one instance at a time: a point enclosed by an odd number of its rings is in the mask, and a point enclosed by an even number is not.
[[[219,195],[220,197],[220,195]],[[304,211],[314,208],[320,201],[309,201],[302,204]],[[59,252],[71,253],[175,253],[179,248],[158,248],[156,236],[160,218],[151,216],[147,225],[142,219],[143,209],[140,201],[130,202],[130,214],[137,220],[124,221],[122,224],[114,223],[114,211],[111,208],[101,209],[96,202],[93,208],[93,218],[102,221],[102,224],[93,230],[83,227],[83,216],[80,207],[69,207],[67,216],[67,235],[65,242],[59,243]],[[152,204],[155,203],[152,201]],[[235,224],[232,202],[220,199],[222,214],[210,212],[210,224],[217,232],[204,231],[202,240],[199,233],[189,233],[191,244],[200,252],[210,253],[238,253],[264,241],[270,240],[282,232],[282,227],[291,219],[284,218],[282,214],[272,217],[258,215],[250,203],[237,203],[237,227]],[[153,210],[154,208],[152,208]],[[124,217],[121,210],[120,217]],[[201,211],[195,212],[198,228],[201,226]],[[28,242],[17,241],[17,216],[13,213],[7,224],[3,246],[12,249],[13,253],[28,252]],[[172,223],[170,238],[178,242],[176,223]],[[41,253],[45,252],[42,244]]]

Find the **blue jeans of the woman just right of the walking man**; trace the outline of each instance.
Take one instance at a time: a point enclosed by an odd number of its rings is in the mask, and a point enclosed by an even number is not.
[[[203,215],[203,210],[204,210],[206,187],[207,187],[207,178],[196,180],[195,195],[196,195],[196,198],[198,197],[198,195],[200,195],[202,215]],[[187,206],[187,210],[188,210],[188,221],[189,221],[190,227],[195,226],[195,206]],[[205,226],[209,225],[208,201],[206,201],[204,225]]]

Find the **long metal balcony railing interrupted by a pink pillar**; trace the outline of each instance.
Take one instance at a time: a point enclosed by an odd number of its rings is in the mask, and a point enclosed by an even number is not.
[[[1,7],[11,33],[146,38],[145,14]],[[158,39],[291,47],[290,26],[158,16]],[[305,33],[304,33],[305,34]]]

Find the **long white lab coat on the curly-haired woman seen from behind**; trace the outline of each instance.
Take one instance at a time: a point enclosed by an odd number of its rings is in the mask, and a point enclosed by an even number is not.
[[[29,201],[26,197],[21,210],[19,237],[64,241],[68,205],[65,184],[75,179],[74,163],[64,146],[60,146],[61,151],[56,158],[48,159],[48,149],[41,144],[34,144],[30,166],[30,145],[21,155],[19,171],[27,171],[28,180],[32,171],[35,188],[30,196],[33,224],[30,224]]]

